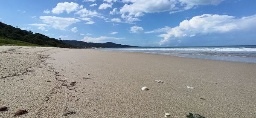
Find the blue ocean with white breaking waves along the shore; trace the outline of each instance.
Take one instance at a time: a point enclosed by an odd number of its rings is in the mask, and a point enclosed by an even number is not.
[[[172,55],[185,58],[201,58],[209,60],[256,63],[256,45],[105,48],[99,50],[121,52],[145,52],[160,55]]]

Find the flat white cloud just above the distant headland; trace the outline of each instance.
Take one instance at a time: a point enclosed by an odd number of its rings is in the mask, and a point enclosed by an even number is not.
[[[108,42],[110,40],[122,40],[125,39],[124,37],[105,37],[105,36],[101,36],[101,37],[87,37],[85,36],[82,41],[86,41],[86,42],[93,42],[93,43],[102,43],[102,42]]]

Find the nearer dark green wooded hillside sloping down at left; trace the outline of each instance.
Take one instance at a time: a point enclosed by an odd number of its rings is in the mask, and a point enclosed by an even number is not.
[[[75,46],[71,46],[70,44],[62,42],[62,40],[50,38],[40,33],[33,34],[33,32],[31,32],[30,30],[29,31],[21,30],[17,27],[15,28],[13,26],[6,25],[5,23],[2,23],[2,22],[0,22],[0,37],[3,37],[1,39],[2,40],[5,39],[5,42],[6,40],[10,39],[10,40],[20,40],[23,42],[28,42],[28,43],[32,43],[40,46],[76,48]],[[9,42],[15,42],[15,41],[9,41]]]

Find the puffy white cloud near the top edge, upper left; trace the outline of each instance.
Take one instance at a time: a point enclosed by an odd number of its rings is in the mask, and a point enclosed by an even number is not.
[[[76,11],[81,8],[83,8],[83,6],[79,6],[79,4],[73,2],[58,3],[57,6],[52,9],[52,13],[61,14],[66,11],[67,14],[69,14],[70,12]]]

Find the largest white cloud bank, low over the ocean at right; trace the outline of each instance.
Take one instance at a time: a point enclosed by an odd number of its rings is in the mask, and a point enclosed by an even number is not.
[[[170,28],[164,27],[147,33],[165,32],[158,35],[163,37],[160,45],[167,43],[171,39],[179,37],[194,37],[196,35],[206,35],[212,33],[227,33],[235,30],[244,30],[256,27],[256,15],[236,18],[229,15],[203,14],[192,17],[190,20],[183,20],[179,26]],[[146,32],[145,32],[146,33]]]

